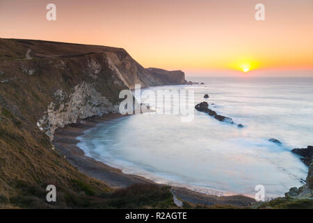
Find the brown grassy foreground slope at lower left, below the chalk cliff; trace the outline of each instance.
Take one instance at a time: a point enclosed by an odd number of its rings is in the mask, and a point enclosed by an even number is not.
[[[52,151],[47,136],[0,107],[0,208],[174,208],[168,187],[132,185],[111,190]],[[13,162],[14,160],[14,162]],[[26,167],[26,168],[25,168]],[[56,185],[57,201],[46,201]]]

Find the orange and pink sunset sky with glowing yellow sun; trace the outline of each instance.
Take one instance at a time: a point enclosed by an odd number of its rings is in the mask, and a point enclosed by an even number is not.
[[[46,19],[48,3],[56,21]],[[199,75],[313,76],[312,10],[312,0],[0,0],[0,37],[122,47],[145,68]]]

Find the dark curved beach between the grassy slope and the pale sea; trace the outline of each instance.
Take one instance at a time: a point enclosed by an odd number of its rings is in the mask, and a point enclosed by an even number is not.
[[[154,183],[141,176],[124,174],[120,169],[109,167],[91,157],[87,157],[81,148],[77,147],[79,140],[77,137],[84,131],[94,128],[98,123],[111,121],[115,118],[122,118],[121,114],[105,114],[104,116],[93,116],[66,125],[65,128],[58,128],[54,134],[53,144],[56,149],[61,151],[66,159],[77,167],[81,173],[102,180],[104,183],[114,189],[128,187],[136,183]],[[255,199],[242,195],[217,197],[199,192],[193,192],[183,187],[172,187],[172,192],[179,198],[189,203],[197,203],[201,205],[234,205],[249,206],[254,203]]]

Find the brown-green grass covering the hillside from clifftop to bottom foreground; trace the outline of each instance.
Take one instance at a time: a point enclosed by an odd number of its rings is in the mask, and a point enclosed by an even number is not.
[[[27,43],[37,45],[35,49],[45,54],[55,53],[51,51],[50,43]],[[60,98],[54,96],[58,89],[70,95],[74,86],[87,82],[111,102],[120,100],[118,95],[127,86],[122,82],[115,83],[115,72],[109,66],[102,66],[97,81],[84,72],[86,61],[90,59],[106,63],[104,54],[85,54],[90,49],[83,45],[71,45],[77,49],[73,48],[69,53],[71,47],[58,44],[61,54],[72,55],[78,51],[81,56],[40,59],[32,55],[33,59],[28,61],[24,60],[28,47],[17,43],[17,40],[0,39],[0,45],[1,53],[8,54],[8,59],[12,60],[3,61],[0,65],[1,71],[12,76],[12,81],[0,88],[0,206],[7,202],[6,206],[17,208],[175,207],[168,188],[134,185],[113,190],[103,182],[81,174],[63,158],[63,154],[51,150],[49,138],[36,126],[38,119],[47,112],[47,105],[60,102]],[[116,50],[119,52],[121,49]],[[124,50],[121,54],[118,56],[127,56]],[[60,60],[66,65],[66,70],[56,66]],[[35,70],[35,73],[28,75],[22,67]],[[46,201],[49,184],[56,185],[56,203]]]

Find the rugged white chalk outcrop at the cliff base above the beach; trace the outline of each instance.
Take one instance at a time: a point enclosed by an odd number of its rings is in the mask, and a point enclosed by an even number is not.
[[[118,112],[118,105],[112,105],[93,84],[83,82],[74,87],[74,93],[67,95],[62,89],[54,94],[56,102],[51,102],[37,125],[45,131],[50,140],[57,128],[63,128],[69,123],[76,123],[79,118],[102,115],[108,112]]]

